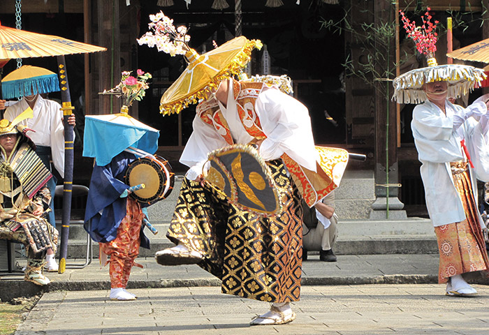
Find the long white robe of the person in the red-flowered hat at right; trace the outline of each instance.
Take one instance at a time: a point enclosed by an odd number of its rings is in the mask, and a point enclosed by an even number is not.
[[[465,161],[460,140],[465,139],[474,169],[469,167],[477,201],[476,179],[489,181],[489,137],[486,116],[476,121],[469,117],[456,131],[453,131],[453,116],[465,115],[468,110],[478,110],[480,114],[487,111],[486,104],[475,102],[467,109],[446,101],[446,116],[437,105],[425,101],[417,105],[413,112],[411,128],[414,143],[418,150],[421,165],[421,179],[425,186],[426,207],[435,227],[465,220],[465,211],[458,196],[450,169],[450,162]],[[483,224],[480,214],[479,223]]]

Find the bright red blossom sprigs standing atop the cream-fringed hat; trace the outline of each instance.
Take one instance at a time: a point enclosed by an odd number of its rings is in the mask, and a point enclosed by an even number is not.
[[[435,57],[435,51],[437,51],[437,36],[435,29],[439,23],[435,20],[432,23],[430,20],[432,16],[430,15],[430,7],[426,8],[425,15],[421,15],[421,20],[423,20],[423,25],[416,27],[416,22],[411,22],[402,10],[399,11],[401,14],[402,22],[404,22],[404,29],[410,38],[416,43],[416,49],[421,54],[425,54],[428,59]]]

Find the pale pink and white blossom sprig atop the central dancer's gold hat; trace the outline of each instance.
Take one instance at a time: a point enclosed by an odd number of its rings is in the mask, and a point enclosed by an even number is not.
[[[190,36],[187,35],[187,27],[180,26],[175,29],[173,20],[161,11],[155,15],[149,15],[149,20],[151,22],[148,27],[152,31],[148,31],[138,39],[139,45],[156,46],[158,51],[166,52],[172,57],[175,54],[186,54],[190,50],[188,45]]]

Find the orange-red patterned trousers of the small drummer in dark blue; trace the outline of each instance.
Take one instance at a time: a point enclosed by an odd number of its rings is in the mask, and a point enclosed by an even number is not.
[[[110,255],[110,288],[126,288],[134,260],[139,255],[143,217],[139,203],[128,197],[126,216],[117,228],[117,237],[100,243],[100,251]]]

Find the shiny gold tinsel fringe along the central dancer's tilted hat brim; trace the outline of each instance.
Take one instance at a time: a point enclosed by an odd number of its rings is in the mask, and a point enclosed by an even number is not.
[[[258,50],[261,49],[262,44],[260,40],[247,41],[245,47],[243,47],[243,49],[236,55],[235,59],[231,61],[231,64],[215,75],[207,86],[194,94],[189,94],[172,103],[161,103],[159,106],[160,113],[163,115],[178,114],[189,105],[207,99],[210,96],[212,89],[217,87],[222,80],[241,73],[242,68],[244,68],[251,59],[250,55],[255,47]]]

